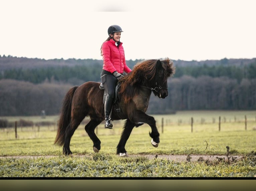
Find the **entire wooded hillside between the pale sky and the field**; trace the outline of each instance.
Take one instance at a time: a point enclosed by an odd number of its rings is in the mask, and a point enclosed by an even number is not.
[[[170,58],[171,59],[171,58]],[[132,69],[142,60],[127,60]],[[196,109],[256,109],[256,58],[173,60],[165,99],[151,96],[147,113]],[[0,115],[58,114],[67,91],[100,82],[102,60],[17,58],[0,55]]]

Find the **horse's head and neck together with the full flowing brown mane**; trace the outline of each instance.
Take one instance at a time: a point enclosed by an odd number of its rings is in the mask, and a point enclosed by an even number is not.
[[[159,98],[165,98],[168,95],[167,79],[174,72],[173,62],[168,58],[137,63],[133,71],[121,79],[120,93],[125,94],[126,103],[139,93],[141,87],[151,90]]]

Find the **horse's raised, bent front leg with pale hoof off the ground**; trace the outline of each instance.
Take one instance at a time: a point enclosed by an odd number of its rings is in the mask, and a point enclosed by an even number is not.
[[[133,120],[134,120],[135,124],[137,122],[143,122],[143,123],[147,123],[151,127],[151,132],[149,132],[149,136],[152,138],[151,144],[154,147],[158,147],[158,143],[160,142],[160,139],[159,139],[160,134],[156,127],[155,118],[150,115],[147,115],[146,113],[144,113],[142,111],[137,111],[133,117]]]

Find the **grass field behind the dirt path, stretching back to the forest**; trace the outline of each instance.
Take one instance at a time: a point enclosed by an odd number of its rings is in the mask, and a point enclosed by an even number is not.
[[[244,116],[247,116],[245,130]],[[173,115],[153,115],[160,133],[158,148],[150,146],[149,125],[134,128],[126,144],[130,154],[225,154],[226,146],[235,154],[247,154],[256,150],[255,111],[182,111]],[[226,117],[226,122],[213,123],[212,118]],[[191,132],[191,117],[194,118]],[[236,117],[236,121],[234,118]],[[53,145],[58,116],[8,117],[9,121],[20,118],[33,122],[51,121],[56,125],[41,127],[18,127],[17,139],[14,128],[0,129],[0,156],[15,155],[58,155],[61,148]],[[162,125],[163,118],[163,129]],[[201,118],[204,118],[202,123]],[[190,119],[190,121],[189,121]],[[230,120],[229,120],[230,119]],[[231,120],[233,119],[233,120]],[[182,122],[181,122],[182,121]],[[124,120],[114,121],[112,130],[100,124],[96,133],[102,142],[101,152],[115,153]],[[81,124],[71,139],[71,150],[76,154],[92,153],[92,141]],[[207,149],[206,149],[207,146]]]

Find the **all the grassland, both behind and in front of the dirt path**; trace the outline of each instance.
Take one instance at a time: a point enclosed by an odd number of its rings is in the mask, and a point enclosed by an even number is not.
[[[160,133],[159,147],[151,145],[148,134],[151,128],[144,124],[133,129],[126,144],[130,157],[125,158],[116,155],[124,121],[114,121],[112,130],[104,129],[104,124],[97,127],[102,142],[99,153],[94,153],[85,124],[81,124],[71,139],[73,157],[63,156],[62,148],[53,145],[56,125],[17,127],[17,138],[13,128],[2,128],[0,177],[255,177],[255,111],[180,111],[153,116]],[[220,131],[219,116],[222,119]],[[194,118],[193,132],[191,117]],[[58,116],[5,118],[56,124],[58,120]],[[148,159],[147,154],[202,157],[198,162],[172,161]],[[205,155],[227,157],[209,161],[204,159]],[[243,157],[235,160],[232,156],[236,155]]]

